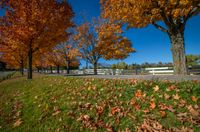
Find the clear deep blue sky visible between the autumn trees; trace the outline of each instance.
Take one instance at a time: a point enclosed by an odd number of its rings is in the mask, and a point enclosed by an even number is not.
[[[86,18],[90,20],[92,17],[98,17],[100,15],[99,0],[69,0],[72,8],[75,12],[74,21],[76,23],[82,22],[81,14],[85,14]],[[2,15],[0,11],[0,15]],[[200,54],[200,15],[190,19],[186,25],[185,30],[185,47],[186,54]],[[125,31],[125,36],[128,37],[136,49],[136,53],[131,54],[125,60],[126,63],[138,63],[143,62],[172,62],[172,55],[170,51],[170,41],[166,34],[155,29],[149,25],[146,28],[130,29]],[[116,63],[121,60],[105,61],[100,60],[102,63]],[[82,66],[85,62],[82,62]],[[81,66],[81,67],[82,67]]]

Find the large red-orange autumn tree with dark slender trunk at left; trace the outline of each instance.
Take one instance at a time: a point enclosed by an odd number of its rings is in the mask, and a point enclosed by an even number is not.
[[[65,0],[8,0],[6,5],[9,8],[1,18],[0,30],[12,34],[8,39],[19,39],[27,49],[28,79],[32,79],[34,53],[66,40],[66,29],[73,24],[71,6]]]

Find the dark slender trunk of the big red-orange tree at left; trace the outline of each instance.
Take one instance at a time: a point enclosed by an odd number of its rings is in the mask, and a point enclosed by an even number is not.
[[[29,45],[29,51],[28,51],[28,79],[32,79],[32,55],[33,55],[33,49],[32,49],[32,42],[30,42]]]

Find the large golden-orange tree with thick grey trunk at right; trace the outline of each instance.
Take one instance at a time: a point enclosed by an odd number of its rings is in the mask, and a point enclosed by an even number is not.
[[[200,12],[199,0],[101,0],[102,16],[128,28],[152,24],[171,40],[175,74],[187,74],[184,30]],[[160,24],[159,22],[163,22]]]

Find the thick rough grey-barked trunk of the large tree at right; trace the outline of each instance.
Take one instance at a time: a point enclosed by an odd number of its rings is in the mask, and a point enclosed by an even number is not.
[[[170,34],[171,51],[173,55],[174,74],[187,75],[184,33]]]

